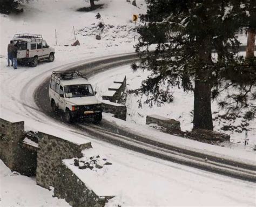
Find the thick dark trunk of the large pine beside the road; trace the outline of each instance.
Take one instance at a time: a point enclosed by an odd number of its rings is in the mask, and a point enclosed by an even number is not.
[[[211,39],[205,38],[200,45],[200,61],[211,65]],[[211,69],[198,67],[196,69],[196,80],[194,86],[194,129],[213,130],[211,109]]]

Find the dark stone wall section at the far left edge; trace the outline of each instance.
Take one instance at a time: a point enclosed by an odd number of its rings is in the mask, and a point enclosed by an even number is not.
[[[9,122],[0,119],[0,158],[12,171],[22,175],[36,175],[36,151],[23,144],[26,134],[24,122]]]

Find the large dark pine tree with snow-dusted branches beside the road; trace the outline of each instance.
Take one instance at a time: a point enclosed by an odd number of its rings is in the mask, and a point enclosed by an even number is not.
[[[193,127],[212,130],[211,98],[217,98],[227,87],[238,87],[246,81],[248,85],[255,84],[255,67],[249,72],[250,78],[240,81],[246,77],[241,77],[241,70],[245,67],[241,66],[244,65],[243,58],[238,55],[236,33],[246,22],[247,8],[241,6],[242,1],[237,0],[147,2],[147,13],[140,17],[145,25],[138,28],[141,37],[136,51],[141,58],[139,67],[151,71],[152,75],[133,92],[153,94],[148,96],[146,102],[163,102],[171,86],[193,91]],[[150,51],[152,47],[154,51]],[[212,56],[212,51],[216,51],[218,57]],[[134,69],[137,67],[133,65]],[[234,77],[233,72],[237,76]],[[168,85],[165,91],[161,89],[164,83]],[[241,98],[242,91],[247,88],[240,89]],[[245,103],[248,94],[237,102]],[[229,99],[232,97],[228,96]],[[232,103],[226,99],[220,104],[232,109],[233,106],[229,105]]]

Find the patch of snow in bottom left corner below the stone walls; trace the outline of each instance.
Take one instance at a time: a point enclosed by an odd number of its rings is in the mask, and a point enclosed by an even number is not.
[[[33,177],[12,172],[0,160],[0,206],[70,206],[64,199],[52,196],[53,190],[36,185]]]

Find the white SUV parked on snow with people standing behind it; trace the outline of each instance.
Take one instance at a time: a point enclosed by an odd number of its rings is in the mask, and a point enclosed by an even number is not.
[[[55,59],[55,49],[46,43],[41,34],[15,34],[12,40],[18,46],[19,63],[36,67],[39,61],[52,62]]]

